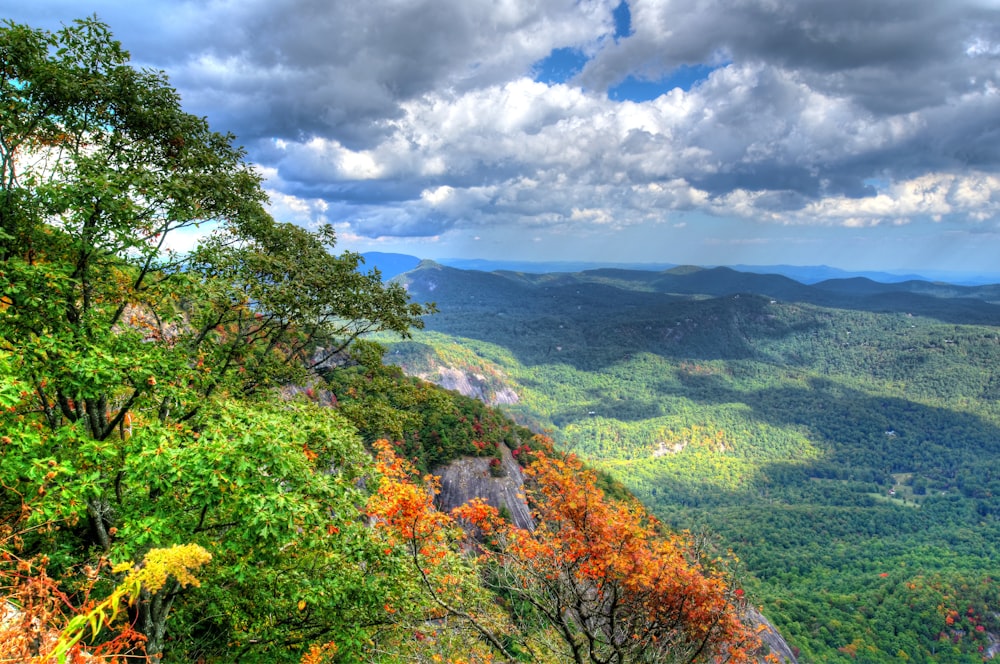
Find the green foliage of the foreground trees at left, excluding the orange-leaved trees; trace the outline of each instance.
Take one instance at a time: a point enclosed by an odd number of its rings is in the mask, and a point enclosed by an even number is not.
[[[457,529],[428,531],[428,575],[367,517],[385,478],[365,442],[421,469],[501,444],[526,463],[538,444],[362,339],[405,337],[432,307],[333,255],[330,229],[271,219],[232,137],[96,19],[5,23],[0,50],[3,601],[52,572],[48,604],[24,604],[45,638],[14,635],[25,657],[60,631],[57,656],[142,642],[153,662],[508,652]],[[166,249],[195,227],[211,231],[196,249]],[[439,629],[447,606],[478,631]]]

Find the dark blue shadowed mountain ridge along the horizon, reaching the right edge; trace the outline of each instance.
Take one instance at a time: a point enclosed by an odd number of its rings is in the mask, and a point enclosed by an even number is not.
[[[561,362],[583,370],[637,352],[753,357],[755,340],[796,331],[775,312],[786,304],[815,307],[816,318],[850,311],[1000,325],[996,287],[865,279],[807,286],[726,268],[555,275],[439,268],[410,275],[415,299],[437,302],[440,313],[426,319],[428,329],[499,344],[526,365]]]

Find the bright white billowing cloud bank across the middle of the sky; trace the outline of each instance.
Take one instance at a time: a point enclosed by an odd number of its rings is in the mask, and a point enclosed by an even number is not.
[[[869,183],[878,175],[902,187],[914,173],[954,166],[960,143],[939,141],[952,154],[921,145],[933,133],[955,130],[936,112],[882,117],[811,89],[794,72],[731,64],[691,91],[642,104],[527,78],[425,95],[402,104],[377,145],[350,151],[314,139],[278,163],[306,189],[307,174],[322,172],[312,180],[316,195],[367,174],[383,184],[420,183],[392,203],[427,219],[392,226],[409,232],[438,234],[454,224],[624,226],[697,208],[806,223],[849,206],[856,209],[850,218],[866,209],[896,218],[940,214],[927,205],[892,212],[887,201],[900,197],[876,195]],[[386,191],[378,185],[364,202],[385,204]],[[361,227],[383,233],[387,226]]]

